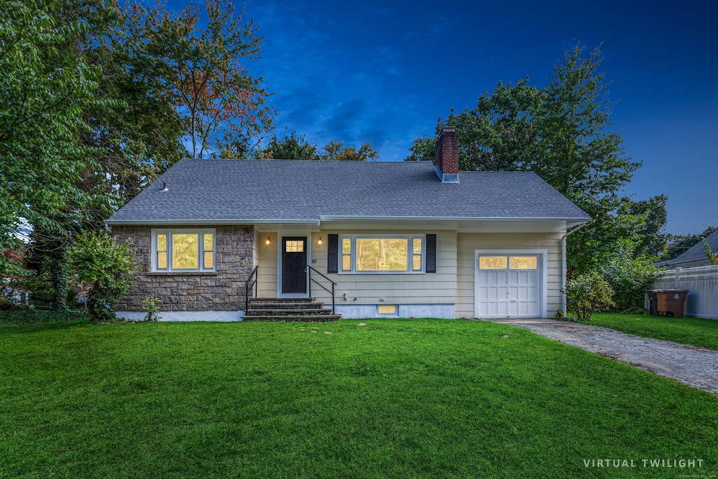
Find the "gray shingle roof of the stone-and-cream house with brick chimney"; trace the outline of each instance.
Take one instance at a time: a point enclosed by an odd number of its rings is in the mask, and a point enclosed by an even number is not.
[[[442,183],[431,162],[183,159],[107,223],[589,219],[533,173],[461,172],[459,180]]]

